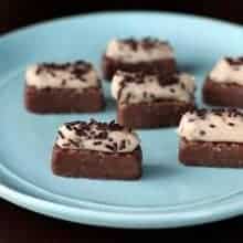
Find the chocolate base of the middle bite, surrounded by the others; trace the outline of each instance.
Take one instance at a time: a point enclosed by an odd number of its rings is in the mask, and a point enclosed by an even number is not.
[[[177,126],[181,116],[194,108],[192,103],[173,101],[118,105],[117,120],[131,128]]]

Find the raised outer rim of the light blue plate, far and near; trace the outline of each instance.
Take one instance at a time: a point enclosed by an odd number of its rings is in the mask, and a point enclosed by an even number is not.
[[[52,19],[34,24],[30,24],[18,30],[13,30],[0,35],[0,43],[2,40],[11,39],[20,33],[28,32],[30,30],[36,28],[44,28],[49,24],[62,23],[65,21],[71,21],[74,19],[83,19],[83,18],[99,18],[99,17],[116,17],[116,15],[168,15],[171,18],[184,18],[190,20],[200,20],[200,21],[209,21],[213,24],[219,24],[219,27],[229,27],[235,28],[237,30],[242,30],[241,24],[235,24],[229,21],[218,20],[208,17],[199,17],[194,14],[188,13],[175,13],[168,11],[102,11],[102,12],[93,12],[93,13],[84,13],[76,15],[68,15],[57,19]],[[8,75],[8,74],[7,74]],[[6,73],[3,73],[6,76]],[[0,182],[0,198],[6,199],[14,204],[23,207],[25,209],[32,210],[34,212],[39,212],[49,216],[78,222],[86,223],[91,225],[103,225],[110,228],[130,228],[130,229],[155,229],[155,228],[175,228],[175,226],[186,226],[186,225],[196,225],[205,222],[213,222],[222,219],[228,219],[234,215],[239,215],[243,213],[243,201],[241,200],[229,200],[229,202],[218,208],[218,210],[205,210],[198,211],[197,213],[192,212],[180,212],[180,215],[175,214],[171,216],[171,213],[162,213],[161,214],[139,214],[134,218],[131,213],[123,213],[123,212],[107,212],[95,211],[87,208],[77,208],[73,205],[66,205],[63,203],[51,202],[45,199],[36,198],[31,194],[27,194],[24,192],[18,191],[15,189],[9,188],[6,184],[1,184]],[[234,196],[232,198],[235,198]],[[231,199],[232,199],[231,198]],[[240,194],[242,199],[243,196]],[[209,203],[210,204],[210,203]],[[215,208],[215,207],[214,207]],[[212,209],[212,208],[211,208]],[[119,215],[118,215],[119,214]],[[166,215],[166,216],[165,216]]]

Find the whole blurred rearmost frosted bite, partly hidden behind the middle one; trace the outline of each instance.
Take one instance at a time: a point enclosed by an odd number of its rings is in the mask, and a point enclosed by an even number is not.
[[[173,73],[176,68],[173,50],[168,42],[158,39],[112,40],[103,55],[103,73],[107,80],[112,80],[117,70]]]

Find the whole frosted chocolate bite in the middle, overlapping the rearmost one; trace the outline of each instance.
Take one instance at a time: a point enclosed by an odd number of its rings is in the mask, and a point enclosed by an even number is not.
[[[128,73],[117,71],[112,94],[117,101],[117,120],[135,128],[176,126],[194,108],[194,78],[186,73]]]

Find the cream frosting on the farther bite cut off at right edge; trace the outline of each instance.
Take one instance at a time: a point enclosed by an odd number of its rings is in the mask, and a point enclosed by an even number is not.
[[[222,59],[209,76],[212,82],[243,85],[243,64],[231,65],[225,59]]]

